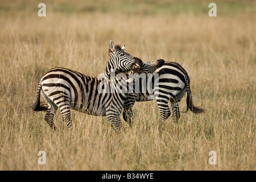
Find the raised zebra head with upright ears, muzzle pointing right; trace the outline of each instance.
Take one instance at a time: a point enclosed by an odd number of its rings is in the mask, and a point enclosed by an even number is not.
[[[109,63],[105,75],[109,76],[111,69],[118,72],[137,72],[142,67],[142,60],[125,52],[123,47],[115,45],[112,40],[109,42]]]

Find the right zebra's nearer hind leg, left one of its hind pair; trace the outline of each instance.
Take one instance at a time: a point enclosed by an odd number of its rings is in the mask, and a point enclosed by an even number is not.
[[[158,121],[159,127],[162,126],[163,122],[166,121],[166,119],[171,115],[168,101],[169,100],[156,100],[156,102],[158,102],[158,108],[160,110],[160,119]]]

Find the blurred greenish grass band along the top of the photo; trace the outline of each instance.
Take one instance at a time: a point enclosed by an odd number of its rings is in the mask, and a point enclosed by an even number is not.
[[[3,0],[1,1],[0,11],[2,14],[26,13],[30,14],[37,9],[38,3],[41,1],[33,0]],[[117,13],[126,15],[179,15],[183,13],[193,13],[196,15],[207,14],[209,11],[208,5],[211,1],[198,0],[96,0],[96,1],[49,1],[43,3],[48,5],[47,11],[62,14],[84,14],[84,13]],[[255,1],[236,1],[224,0],[214,1],[218,4],[218,15],[235,15],[243,11],[253,12],[255,10]]]

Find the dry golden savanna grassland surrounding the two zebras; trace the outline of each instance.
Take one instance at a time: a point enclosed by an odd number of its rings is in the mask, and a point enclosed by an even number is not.
[[[1,1],[0,169],[255,170],[255,10],[255,1]],[[65,67],[97,77],[110,40],[144,62],[183,65],[205,113],[168,118],[159,131],[156,102],[137,102],[133,128],[123,122],[116,134],[105,117],[73,110],[69,131],[57,111],[53,132],[45,113],[30,109],[40,76]]]

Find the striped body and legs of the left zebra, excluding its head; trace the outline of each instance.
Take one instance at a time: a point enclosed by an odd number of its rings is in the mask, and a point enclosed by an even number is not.
[[[117,109],[121,113],[123,102],[127,96],[120,97],[119,94],[110,94],[107,92],[108,90],[105,90],[105,93],[98,93],[97,90],[98,85],[102,82],[108,84],[109,88],[113,85],[114,89],[118,89],[114,85],[117,81],[112,80],[98,80],[96,77],[89,77],[70,69],[53,68],[41,77],[34,106],[39,105],[38,96],[42,93],[44,100],[48,102],[44,119],[52,129],[55,129],[53,116],[57,109],[60,109],[67,127],[71,128],[71,109],[74,109],[91,115],[104,116],[108,113],[107,118],[110,119],[114,128],[119,130],[121,121],[117,115]],[[118,93],[117,90],[116,93]],[[112,102],[114,103],[112,104]],[[35,107],[34,110],[36,110]]]

